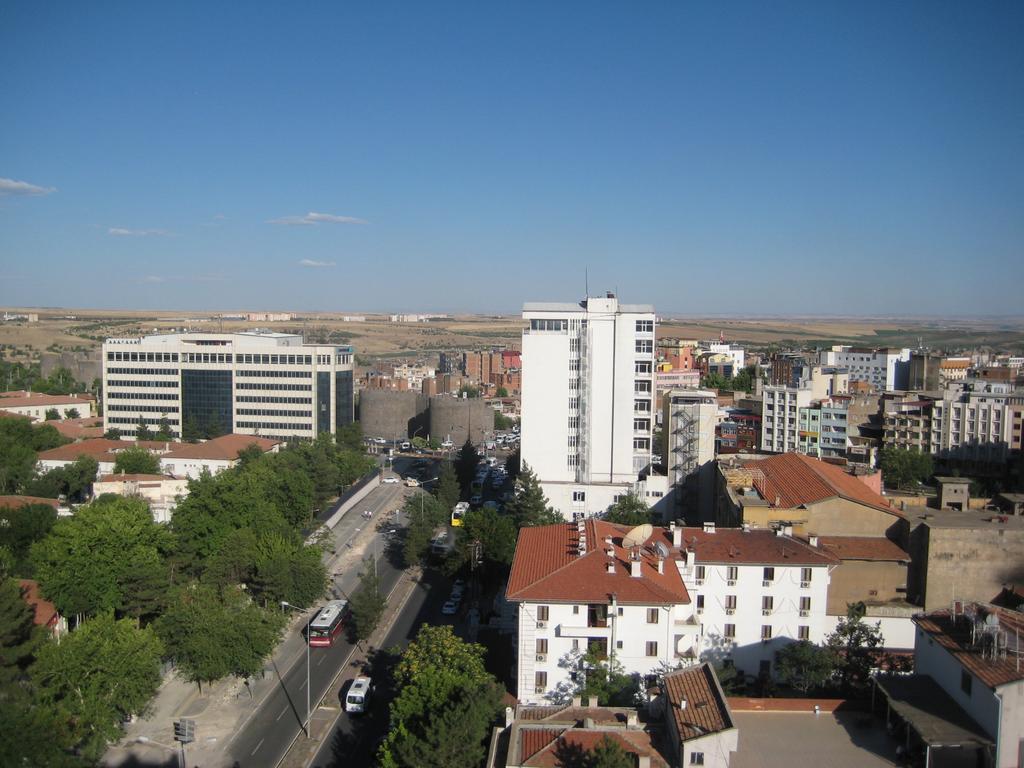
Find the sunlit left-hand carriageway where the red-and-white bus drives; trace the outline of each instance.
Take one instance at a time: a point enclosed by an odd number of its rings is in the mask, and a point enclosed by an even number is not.
[[[398,485],[382,485],[374,496],[345,515],[336,532],[353,531],[365,521],[359,517],[361,508],[374,510],[377,522],[378,512],[390,510],[398,505]],[[344,526],[344,529],[342,529]],[[373,546],[368,551],[373,551]],[[401,557],[398,546],[383,550],[378,561],[381,589],[389,593],[401,577]],[[351,589],[353,577],[342,583]],[[344,588],[343,588],[344,589]],[[339,642],[329,648],[310,648],[309,678],[312,691],[311,702],[316,702],[327,692],[338,671],[347,663],[353,645],[344,635]],[[303,653],[288,670],[276,671],[280,685],[267,696],[256,714],[246,723],[227,748],[227,753],[241,766],[276,765],[296,734],[302,730],[306,717],[306,658]]]

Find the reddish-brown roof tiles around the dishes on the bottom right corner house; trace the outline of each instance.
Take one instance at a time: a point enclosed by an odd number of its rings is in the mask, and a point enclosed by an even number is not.
[[[995,614],[999,624],[1010,635],[1024,633],[1024,613],[994,605],[978,605],[969,603],[968,609],[975,611],[979,621],[984,621],[989,614]],[[1002,658],[986,658],[982,655],[981,644],[971,642],[972,621],[959,616],[955,622],[948,609],[936,610],[913,616],[913,623],[931,635],[935,642],[949,651],[976,678],[985,685],[995,688],[1018,680],[1024,680],[1024,669],[1017,668],[1017,662],[1012,653]]]

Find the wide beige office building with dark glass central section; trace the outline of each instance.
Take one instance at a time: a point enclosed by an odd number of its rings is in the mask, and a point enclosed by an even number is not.
[[[166,418],[176,438],[335,433],[353,419],[350,346],[278,333],[167,334],[103,344],[103,428],[135,436]]]

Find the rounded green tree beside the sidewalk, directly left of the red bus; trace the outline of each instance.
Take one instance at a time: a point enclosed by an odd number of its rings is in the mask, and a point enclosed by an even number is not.
[[[174,592],[155,626],[186,679],[202,687],[259,672],[285,622],[280,611],[254,605],[240,589],[189,584]]]

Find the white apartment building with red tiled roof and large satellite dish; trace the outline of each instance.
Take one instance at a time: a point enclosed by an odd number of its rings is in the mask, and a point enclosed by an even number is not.
[[[772,530],[654,528],[640,545],[598,519],[523,528],[507,599],[517,610],[518,698],[564,700],[588,649],[628,674],[731,659],[771,670],[784,643],[825,636],[838,559]]]

